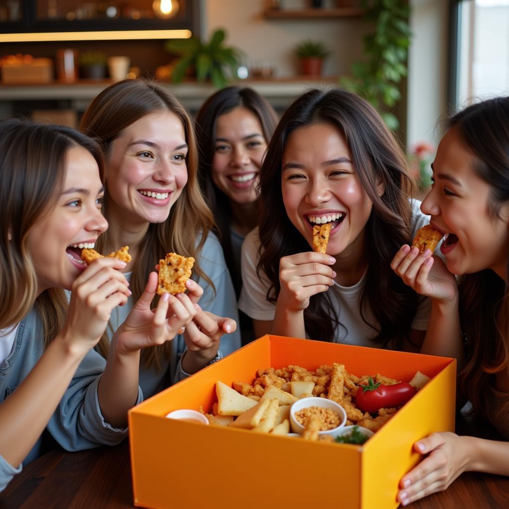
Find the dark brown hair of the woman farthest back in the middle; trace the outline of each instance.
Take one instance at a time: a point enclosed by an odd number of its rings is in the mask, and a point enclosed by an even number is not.
[[[217,223],[216,233],[221,242],[227,267],[235,267],[232,242],[230,240],[231,210],[226,196],[212,181],[211,167],[216,144],[217,119],[242,106],[250,110],[262,125],[263,136],[268,143],[277,124],[274,108],[258,92],[250,88],[228,87],[211,95],[196,116],[196,138],[200,148],[198,174],[200,185]],[[240,271],[240,267],[236,267]],[[231,276],[237,296],[241,281],[237,280],[237,270]]]

